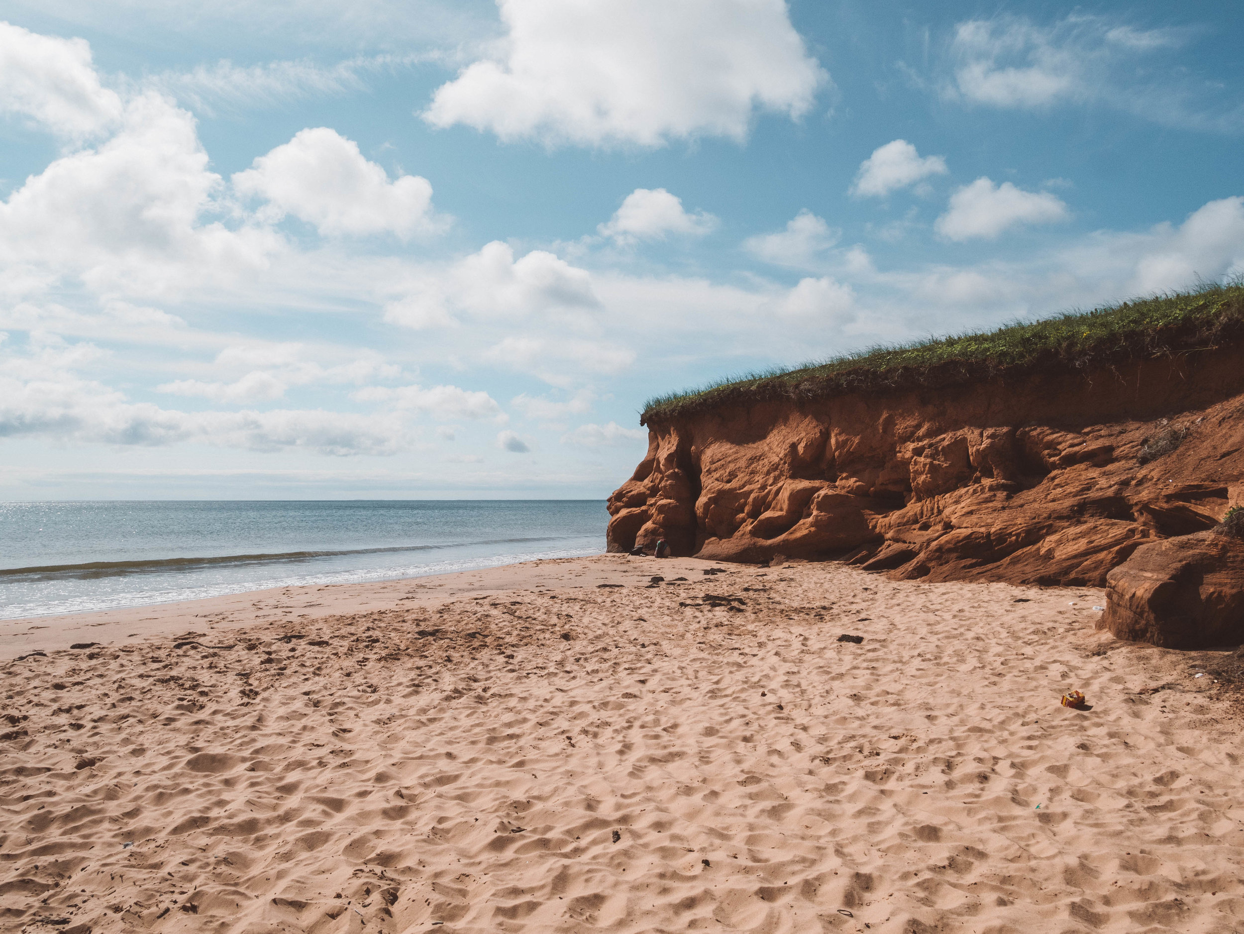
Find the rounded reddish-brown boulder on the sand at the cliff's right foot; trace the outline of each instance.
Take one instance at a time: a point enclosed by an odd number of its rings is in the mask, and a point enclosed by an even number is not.
[[[1142,545],[1106,576],[1098,628],[1162,648],[1244,643],[1244,540],[1195,532]]]

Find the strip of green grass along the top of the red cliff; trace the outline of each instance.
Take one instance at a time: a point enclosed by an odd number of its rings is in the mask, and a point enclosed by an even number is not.
[[[776,399],[812,400],[847,392],[934,388],[1019,376],[1037,368],[1082,371],[1208,349],[1244,337],[1244,277],[1168,292],[985,333],[871,347],[820,363],[728,377],[657,395],[639,424]]]

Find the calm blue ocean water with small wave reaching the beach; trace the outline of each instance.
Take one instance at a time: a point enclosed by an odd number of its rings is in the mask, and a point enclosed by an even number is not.
[[[601,500],[0,502],[0,619],[605,550]]]

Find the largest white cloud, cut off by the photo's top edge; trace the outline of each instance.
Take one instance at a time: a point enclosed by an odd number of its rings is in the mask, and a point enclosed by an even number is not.
[[[743,139],[755,111],[799,118],[827,75],[782,0],[498,0],[495,55],[423,117],[501,139],[661,146]]]

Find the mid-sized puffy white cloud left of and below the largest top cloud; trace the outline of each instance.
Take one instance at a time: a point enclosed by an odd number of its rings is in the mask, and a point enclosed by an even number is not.
[[[262,198],[274,219],[292,214],[326,235],[434,230],[432,184],[420,175],[392,182],[358,143],[335,129],[302,129],[233,177],[241,195]]]

